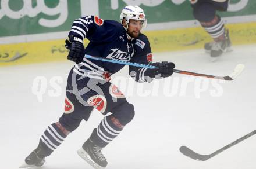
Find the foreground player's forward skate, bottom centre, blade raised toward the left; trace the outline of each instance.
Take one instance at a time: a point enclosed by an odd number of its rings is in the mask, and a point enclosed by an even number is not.
[[[83,144],[83,148],[77,150],[77,153],[95,169],[100,169],[106,167],[108,164],[101,150],[101,147],[95,145],[90,139],[87,139]]]

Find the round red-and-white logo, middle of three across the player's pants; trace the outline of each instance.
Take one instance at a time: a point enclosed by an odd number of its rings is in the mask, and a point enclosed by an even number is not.
[[[102,113],[106,110],[106,98],[102,95],[94,95],[90,97],[87,100],[87,103]]]

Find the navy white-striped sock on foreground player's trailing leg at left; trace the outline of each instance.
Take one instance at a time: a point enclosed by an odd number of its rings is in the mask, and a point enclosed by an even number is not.
[[[47,127],[40,138],[38,148],[41,149],[41,156],[49,156],[67,137],[67,131],[59,122]]]

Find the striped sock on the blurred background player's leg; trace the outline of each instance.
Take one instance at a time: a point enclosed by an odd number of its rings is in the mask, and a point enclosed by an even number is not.
[[[213,20],[201,22],[200,24],[214,38],[214,41],[223,41],[225,39],[225,26],[221,17],[215,16]]]

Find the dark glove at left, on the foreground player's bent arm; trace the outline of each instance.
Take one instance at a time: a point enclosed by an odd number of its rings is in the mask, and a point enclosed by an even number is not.
[[[85,54],[83,40],[74,36],[70,36],[69,40],[66,39],[65,41],[65,47],[66,49],[69,49],[67,59],[74,61],[76,64],[78,64],[83,60]]]

